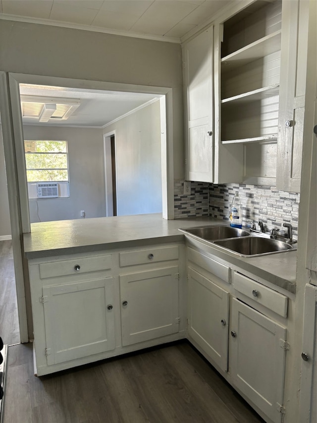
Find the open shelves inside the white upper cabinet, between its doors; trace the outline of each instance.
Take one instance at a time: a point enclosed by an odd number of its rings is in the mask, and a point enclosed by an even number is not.
[[[223,24],[220,144],[243,161],[240,182],[276,177],[281,14],[280,0],[258,1]]]

